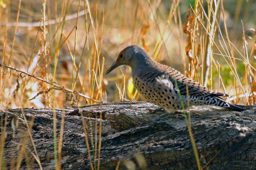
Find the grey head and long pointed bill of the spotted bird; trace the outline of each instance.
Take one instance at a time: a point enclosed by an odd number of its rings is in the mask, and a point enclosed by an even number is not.
[[[115,69],[121,65],[131,66],[132,60],[134,58],[134,54],[136,54],[136,51],[138,51],[138,49],[140,50],[141,48],[137,47],[136,45],[130,45],[130,46],[124,48],[124,50],[122,50],[118,54],[117,60],[110,66],[110,68],[107,70],[106,74],[109,74],[113,69]]]

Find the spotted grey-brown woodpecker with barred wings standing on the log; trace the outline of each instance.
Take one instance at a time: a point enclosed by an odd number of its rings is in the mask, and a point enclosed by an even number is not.
[[[133,84],[138,92],[149,102],[164,108],[167,113],[187,110],[188,106],[193,105],[215,105],[234,111],[246,110],[225,102],[222,97],[227,97],[228,94],[214,92],[176,69],[156,62],[136,45],[124,48],[106,74],[121,65],[131,67]]]

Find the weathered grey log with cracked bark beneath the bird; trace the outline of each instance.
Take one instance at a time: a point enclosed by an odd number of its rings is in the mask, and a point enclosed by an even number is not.
[[[54,169],[55,111],[58,139],[61,117],[64,116],[61,147],[63,169],[90,169],[81,113],[94,139],[95,126],[102,122],[100,169],[115,169],[118,161],[119,169],[196,169],[184,114],[176,111],[165,120],[151,122],[164,113],[163,110],[155,111],[156,108],[149,102],[111,102],[70,109],[24,108],[23,111],[0,111],[1,132],[6,126],[3,164],[8,169],[15,167],[23,145],[26,147],[25,154],[21,156],[20,168],[39,168],[32,156],[35,150],[23,112],[28,124],[34,120],[30,132],[43,169]],[[192,132],[201,165],[208,163],[205,169],[256,168],[256,106],[245,108],[250,110],[236,112],[209,106],[190,110]],[[102,120],[98,119],[100,113]],[[91,134],[86,135],[94,162]]]

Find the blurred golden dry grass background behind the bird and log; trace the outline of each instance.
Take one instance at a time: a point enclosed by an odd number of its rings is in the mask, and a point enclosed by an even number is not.
[[[0,67],[0,109],[144,100],[129,67],[104,75],[132,44],[231,103],[256,104],[254,0],[0,0],[0,10],[11,67]]]

